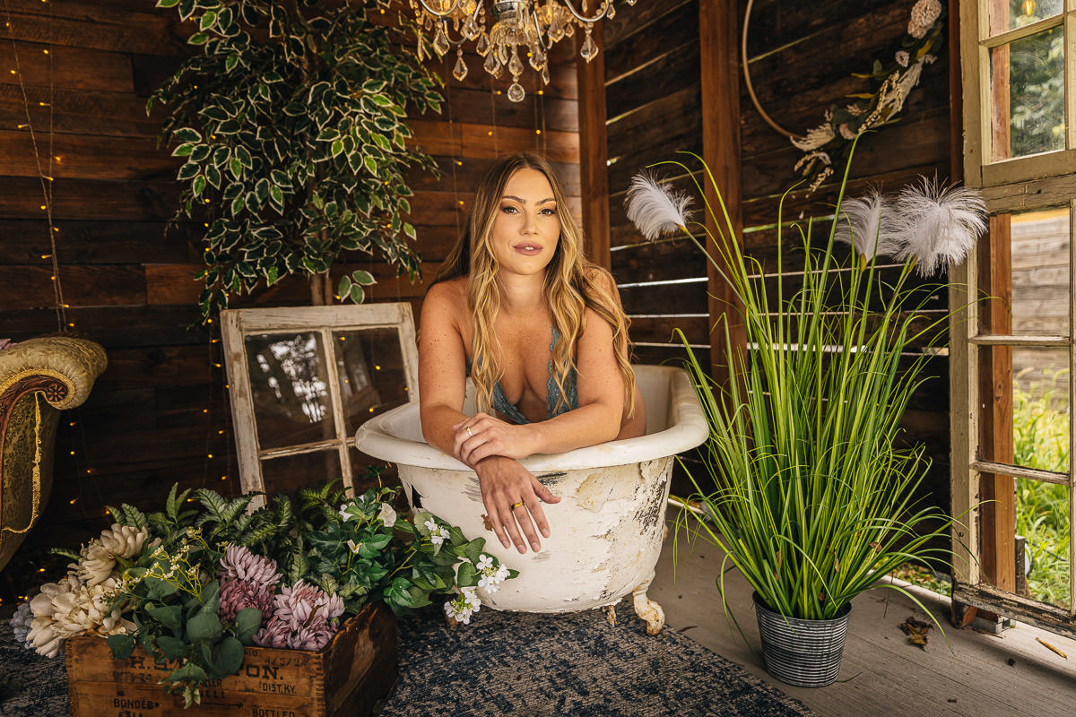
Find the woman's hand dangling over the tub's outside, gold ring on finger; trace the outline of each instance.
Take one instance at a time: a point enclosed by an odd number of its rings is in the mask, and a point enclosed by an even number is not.
[[[549,537],[549,521],[541,508],[542,501],[560,503],[561,499],[511,458],[484,458],[475,465],[475,472],[482,489],[486,517],[500,544],[507,548],[514,543],[515,549],[526,553],[529,543],[535,553],[541,550],[535,526],[544,537]]]

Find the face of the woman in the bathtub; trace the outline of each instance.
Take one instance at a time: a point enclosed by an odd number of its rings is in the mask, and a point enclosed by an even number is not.
[[[493,253],[501,272],[530,275],[544,271],[561,238],[553,187],[536,169],[508,178],[493,221]]]

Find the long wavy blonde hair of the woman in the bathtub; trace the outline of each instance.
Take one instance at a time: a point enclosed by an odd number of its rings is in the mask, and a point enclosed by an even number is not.
[[[477,390],[479,411],[491,412],[493,387],[504,376],[500,343],[493,330],[500,310],[497,286],[499,264],[493,250],[493,224],[500,209],[500,198],[509,178],[521,169],[538,170],[549,180],[561,219],[561,236],[553,258],[546,268],[543,286],[546,301],[553,316],[553,326],[561,335],[553,348],[553,381],[560,390],[555,411],[567,407],[565,382],[576,368],[576,342],[586,328],[585,310],[593,310],[612,327],[617,364],[624,376],[624,406],[627,415],[635,414],[635,372],[629,362],[627,316],[615,295],[612,275],[583,256],[583,235],[568,212],[564,191],[549,161],[532,153],[504,157],[479,182],[470,215],[463,235],[449,253],[434,284],[467,276],[467,304],[475,321],[471,354],[471,378]]]

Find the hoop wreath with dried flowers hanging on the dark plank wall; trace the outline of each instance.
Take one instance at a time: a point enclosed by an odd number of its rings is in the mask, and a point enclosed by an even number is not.
[[[937,59],[936,53],[944,40],[945,8],[940,0],[918,0],[908,18],[908,32],[901,43],[902,48],[887,63],[875,60],[868,73],[853,72],[853,77],[868,77],[878,83],[874,91],[849,95],[852,102],[845,107],[836,104],[825,112],[825,121],[798,137],[778,125],[766,114],[754,94],[751,73],[747,62],[747,32],[751,23],[751,5],[748,0],[744,16],[744,34],[740,41],[744,81],[762,118],[775,130],[788,137],[792,144],[805,154],[796,162],[793,171],[808,181],[810,195],[834,172],[834,166],[847,160],[852,141],[868,129],[893,121],[904,107],[904,101],[919,84],[923,67]]]

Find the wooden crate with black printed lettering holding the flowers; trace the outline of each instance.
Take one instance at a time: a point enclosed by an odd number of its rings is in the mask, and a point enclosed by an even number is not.
[[[368,605],[320,653],[247,647],[239,674],[211,680],[201,704],[165,693],[166,671],[142,647],[112,659],[100,637],[67,643],[72,717],[366,717],[396,683],[396,618]]]

